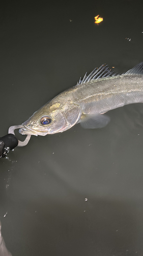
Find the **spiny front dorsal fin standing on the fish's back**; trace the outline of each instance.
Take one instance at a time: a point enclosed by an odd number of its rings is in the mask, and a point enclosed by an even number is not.
[[[80,77],[79,82],[77,82],[77,86],[85,82],[90,82],[91,80],[97,80],[103,77],[109,77],[113,75],[114,73],[109,69],[109,67],[103,64],[100,68],[95,68],[88,76],[87,73],[85,73],[82,80]]]

